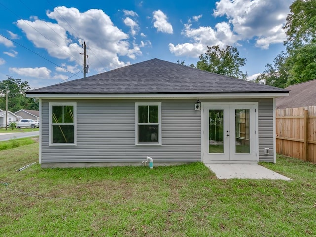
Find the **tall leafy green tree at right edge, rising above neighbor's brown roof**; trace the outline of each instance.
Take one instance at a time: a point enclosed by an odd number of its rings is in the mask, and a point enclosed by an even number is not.
[[[295,0],[286,18],[287,85],[316,79],[316,0]]]

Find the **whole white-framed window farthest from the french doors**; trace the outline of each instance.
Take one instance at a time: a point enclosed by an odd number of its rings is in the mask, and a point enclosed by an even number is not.
[[[76,145],[76,103],[49,103],[49,145]]]

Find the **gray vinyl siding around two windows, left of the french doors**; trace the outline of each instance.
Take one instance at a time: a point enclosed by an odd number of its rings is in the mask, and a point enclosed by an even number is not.
[[[201,117],[194,100],[159,100],[162,145],[135,145],[135,102],[153,100],[79,100],[77,146],[49,146],[49,103],[43,100],[42,163],[155,162],[201,160]],[[91,118],[93,114],[93,118]]]

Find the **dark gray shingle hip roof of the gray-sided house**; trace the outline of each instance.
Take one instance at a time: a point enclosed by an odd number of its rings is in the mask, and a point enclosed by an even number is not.
[[[27,94],[269,93],[286,90],[151,59]]]

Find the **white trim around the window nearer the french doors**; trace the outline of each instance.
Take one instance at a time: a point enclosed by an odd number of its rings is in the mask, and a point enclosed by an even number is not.
[[[158,105],[158,113],[159,113],[159,142],[138,142],[138,106],[140,105]],[[155,145],[162,145],[162,124],[161,124],[161,102],[136,102],[135,103],[135,145],[145,145],[145,146],[155,146]]]

